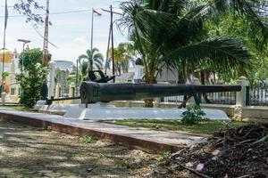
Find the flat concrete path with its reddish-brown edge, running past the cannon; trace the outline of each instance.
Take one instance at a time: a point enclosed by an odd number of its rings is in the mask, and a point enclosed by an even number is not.
[[[179,150],[182,147],[206,141],[204,137],[195,134],[162,132],[147,128],[106,124],[15,109],[0,109],[0,117],[20,121],[29,125],[49,127],[54,131],[67,134],[91,134],[101,139],[109,139],[130,147],[153,150],[153,152],[159,150]]]

